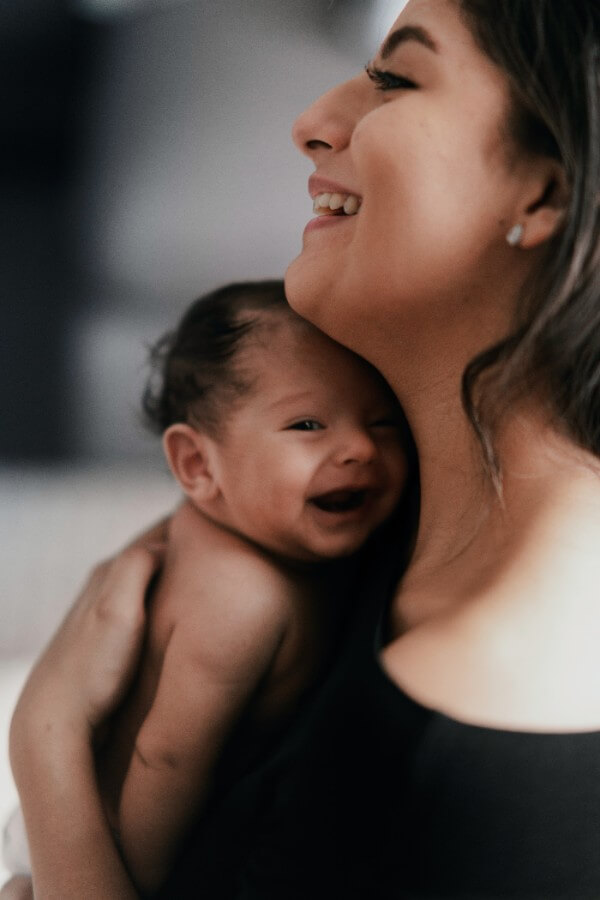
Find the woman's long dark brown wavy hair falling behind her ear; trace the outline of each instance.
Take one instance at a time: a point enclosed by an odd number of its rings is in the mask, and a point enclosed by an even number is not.
[[[467,414],[500,484],[494,423],[526,391],[539,391],[559,428],[600,456],[600,2],[455,2],[509,79],[517,147],[558,160],[570,188],[513,333],[463,377]]]

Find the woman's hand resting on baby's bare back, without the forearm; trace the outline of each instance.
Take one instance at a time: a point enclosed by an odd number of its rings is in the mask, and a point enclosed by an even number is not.
[[[165,540],[161,522],[93,570],[17,704],[10,740],[17,780],[30,727],[40,737],[67,729],[89,738],[121,700],[139,658],[144,599]]]

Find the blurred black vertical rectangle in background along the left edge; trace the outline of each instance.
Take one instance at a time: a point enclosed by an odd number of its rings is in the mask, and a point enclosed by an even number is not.
[[[59,2],[0,11],[0,455],[67,453],[65,323],[76,295],[64,229],[93,29]]]

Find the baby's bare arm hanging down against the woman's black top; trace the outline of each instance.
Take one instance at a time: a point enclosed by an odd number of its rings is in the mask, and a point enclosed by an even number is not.
[[[223,742],[283,639],[280,579],[259,570],[239,585],[239,596],[211,598],[176,625],[137,736],[118,820],[129,870],[148,893],[164,880]]]

